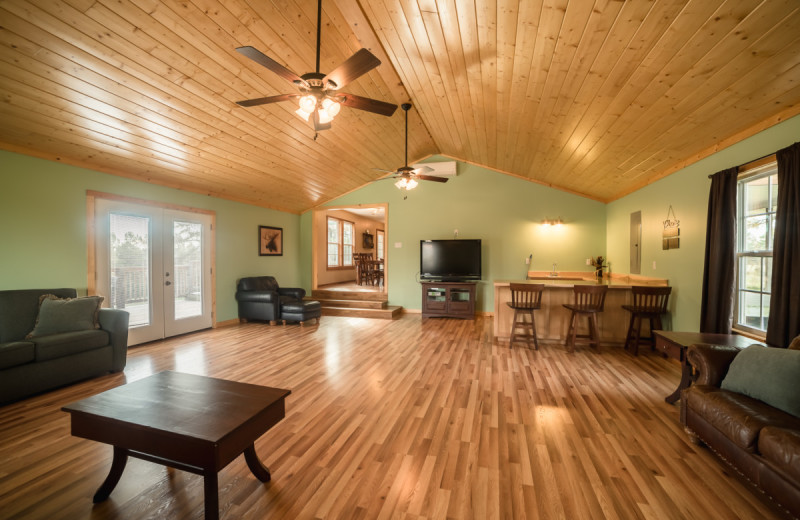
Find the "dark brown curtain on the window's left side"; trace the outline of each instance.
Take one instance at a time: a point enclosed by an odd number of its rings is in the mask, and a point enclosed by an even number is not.
[[[736,182],[739,168],[711,176],[700,332],[730,334],[736,290]]]

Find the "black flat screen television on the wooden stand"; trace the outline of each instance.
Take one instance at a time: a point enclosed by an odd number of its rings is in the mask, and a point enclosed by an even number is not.
[[[459,282],[481,279],[481,241],[420,240],[421,280]]]

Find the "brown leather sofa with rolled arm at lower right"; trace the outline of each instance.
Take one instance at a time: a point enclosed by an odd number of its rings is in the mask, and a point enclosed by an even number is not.
[[[717,345],[688,348],[698,379],[681,393],[681,421],[694,441],[800,517],[800,418],[720,388],[738,353]]]

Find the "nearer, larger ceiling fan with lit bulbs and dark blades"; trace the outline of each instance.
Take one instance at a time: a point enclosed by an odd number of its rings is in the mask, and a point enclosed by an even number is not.
[[[339,113],[341,105],[350,108],[357,108],[367,112],[373,112],[382,116],[391,116],[397,110],[397,105],[370,99],[355,94],[337,92],[351,81],[363,76],[370,70],[381,64],[381,61],[367,49],[361,49],[341,65],[336,67],[333,72],[322,74],[319,71],[319,49],[320,36],[322,31],[322,0],[317,3],[317,69],[316,72],[309,72],[298,76],[277,61],[254,47],[238,47],[237,52],[250,58],[259,65],[262,65],[278,76],[292,82],[298,89],[296,94],[280,94],[277,96],[261,97],[237,101],[236,104],[243,107],[266,105],[299,98],[299,108],[295,113],[308,121],[313,116],[314,130],[327,130],[331,127],[331,121]]]

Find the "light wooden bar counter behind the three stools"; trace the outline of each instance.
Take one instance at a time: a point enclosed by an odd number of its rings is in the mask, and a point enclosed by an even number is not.
[[[605,310],[597,316],[600,341],[604,344],[622,345],[628,333],[630,313],[622,308],[633,300],[631,287],[634,285],[669,285],[661,278],[647,278],[636,275],[612,274],[599,281],[594,273],[559,272],[557,277],[548,276],[547,272],[530,271],[528,280],[495,280],[494,281],[494,338],[508,342],[511,335],[511,321],[514,311],[506,305],[511,301],[509,284],[541,283],[542,308],[536,311],[536,334],[539,341],[564,344],[569,329],[570,312],[563,307],[564,303],[573,301],[572,287],[575,285],[607,285]],[[578,332],[586,327],[586,320],[579,320]]]

